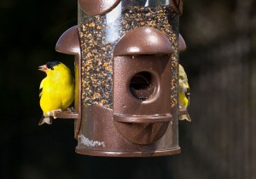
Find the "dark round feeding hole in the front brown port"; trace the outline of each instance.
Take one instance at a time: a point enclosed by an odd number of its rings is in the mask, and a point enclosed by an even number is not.
[[[149,72],[138,72],[131,78],[131,94],[140,101],[148,100],[153,95],[155,88],[154,78]]]

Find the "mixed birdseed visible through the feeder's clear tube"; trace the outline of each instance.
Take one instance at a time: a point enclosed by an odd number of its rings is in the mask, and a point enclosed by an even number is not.
[[[140,26],[152,26],[165,33],[172,43],[171,106],[175,107],[178,15],[170,5],[155,8],[133,6],[121,11],[120,17],[110,25],[107,15],[88,16],[82,10],[79,12],[83,105],[113,108],[113,48],[125,32]]]

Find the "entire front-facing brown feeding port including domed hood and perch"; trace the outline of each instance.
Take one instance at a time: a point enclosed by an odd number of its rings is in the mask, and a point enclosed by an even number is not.
[[[149,26],[125,33],[113,49],[113,120],[129,141],[156,141],[172,120],[171,54],[171,42]],[[148,135],[154,137],[131,135],[131,131],[137,134],[148,126]]]

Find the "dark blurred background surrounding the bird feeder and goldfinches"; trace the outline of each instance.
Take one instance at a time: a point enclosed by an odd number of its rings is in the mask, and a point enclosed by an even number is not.
[[[38,127],[38,66],[73,56],[55,43],[77,24],[77,2],[1,0],[0,177],[18,179],[256,178],[256,2],[183,1],[192,123],[179,123],[182,153],[102,158],[74,152],[72,120]]]

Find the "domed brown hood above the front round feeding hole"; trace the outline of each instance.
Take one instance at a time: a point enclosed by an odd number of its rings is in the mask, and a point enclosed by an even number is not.
[[[113,49],[114,55],[170,55],[172,43],[160,30],[137,27],[126,32]]]

